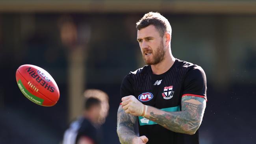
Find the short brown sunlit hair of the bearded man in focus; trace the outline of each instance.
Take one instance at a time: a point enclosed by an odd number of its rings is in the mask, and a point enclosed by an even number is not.
[[[166,32],[172,32],[171,25],[169,21],[163,17],[160,13],[156,12],[149,12],[146,13],[137,23],[136,28],[137,30],[141,30],[142,28],[146,28],[149,25],[153,25],[159,31],[161,37]]]

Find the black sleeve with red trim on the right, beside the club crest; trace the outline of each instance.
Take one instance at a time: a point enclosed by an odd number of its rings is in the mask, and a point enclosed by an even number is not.
[[[195,66],[187,72],[184,79],[184,90],[182,96],[206,97],[206,75],[200,66]]]

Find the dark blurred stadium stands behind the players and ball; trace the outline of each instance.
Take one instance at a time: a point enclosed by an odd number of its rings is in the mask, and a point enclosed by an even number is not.
[[[59,144],[89,88],[109,94],[104,144],[118,144],[119,87],[144,65],[135,22],[148,11],[171,23],[174,56],[206,72],[201,144],[255,144],[254,0],[1,0],[0,144]],[[56,80],[61,96],[54,107],[22,95],[15,72],[23,64]]]

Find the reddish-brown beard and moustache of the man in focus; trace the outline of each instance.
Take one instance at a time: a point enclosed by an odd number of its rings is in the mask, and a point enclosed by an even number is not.
[[[163,49],[163,42],[161,42],[161,45],[154,52],[152,52],[152,54],[153,54],[153,60],[147,61],[145,52],[144,51],[142,52],[143,60],[147,65],[156,65],[164,60],[165,51]]]

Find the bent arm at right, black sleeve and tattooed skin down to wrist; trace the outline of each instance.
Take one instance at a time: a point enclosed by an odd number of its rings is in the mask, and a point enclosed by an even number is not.
[[[165,112],[148,107],[145,117],[161,126],[189,135],[195,134],[204,116],[206,107],[206,75],[200,66],[194,66],[184,79],[181,107],[179,112]]]

